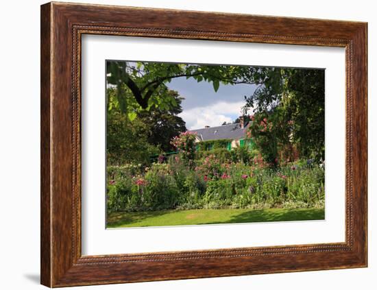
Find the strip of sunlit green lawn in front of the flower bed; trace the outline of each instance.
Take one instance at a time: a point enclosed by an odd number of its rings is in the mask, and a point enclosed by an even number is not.
[[[323,208],[159,210],[137,213],[110,213],[107,226],[108,228],[130,228],[258,221],[307,221],[324,218],[325,212]]]

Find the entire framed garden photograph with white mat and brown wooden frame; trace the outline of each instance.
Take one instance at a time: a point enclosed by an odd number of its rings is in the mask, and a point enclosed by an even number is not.
[[[367,267],[367,23],[41,6],[41,283]]]

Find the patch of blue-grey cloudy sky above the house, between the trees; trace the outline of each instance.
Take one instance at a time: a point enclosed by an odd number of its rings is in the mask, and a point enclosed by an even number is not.
[[[192,77],[188,80],[186,77],[175,78],[167,86],[184,97],[183,112],[179,116],[186,122],[188,130],[234,121],[245,106],[244,96],[252,95],[256,88],[252,84],[220,84],[219,90],[215,92],[212,83],[198,83]]]

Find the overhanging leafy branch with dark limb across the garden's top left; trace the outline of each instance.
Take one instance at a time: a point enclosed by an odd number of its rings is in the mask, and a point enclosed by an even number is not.
[[[135,117],[135,110],[162,109],[176,106],[175,99],[164,91],[176,77],[193,77],[197,82],[212,82],[215,91],[222,84],[253,84],[254,67],[199,64],[167,64],[161,62],[107,62],[108,84],[117,88],[117,101],[123,112]],[[134,97],[130,104],[125,90]],[[129,106],[132,105],[132,106]],[[131,112],[131,113],[130,113]]]

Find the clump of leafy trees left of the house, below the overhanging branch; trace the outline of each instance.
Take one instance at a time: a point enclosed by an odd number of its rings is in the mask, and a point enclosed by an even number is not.
[[[125,90],[126,92],[126,90]],[[182,112],[182,97],[174,90],[165,93],[173,97],[176,106],[162,110],[151,108],[149,112],[137,112],[130,120],[117,104],[117,89],[108,88],[107,152],[108,162],[121,165],[127,162],[147,164],[150,156],[175,149],[170,141],[186,131],[186,124],[177,115]],[[132,96],[126,98],[130,103]]]

